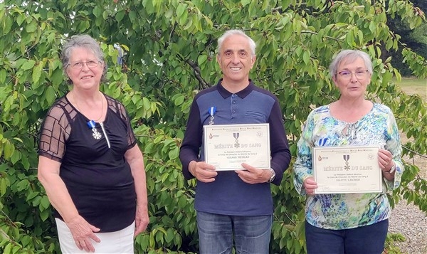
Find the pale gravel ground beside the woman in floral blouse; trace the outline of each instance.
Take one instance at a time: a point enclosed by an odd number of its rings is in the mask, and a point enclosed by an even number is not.
[[[406,254],[427,253],[427,216],[417,206],[400,201],[391,211],[389,233],[401,233],[406,241],[395,242]]]

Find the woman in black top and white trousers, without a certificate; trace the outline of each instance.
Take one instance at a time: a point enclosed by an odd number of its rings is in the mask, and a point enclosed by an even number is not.
[[[93,38],[70,38],[62,62],[73,89],[48,111],[38,151],[38,179],[55,208],[60,248],[133,253],[134,236],[149,218],[144,162],[129,117],[99,90],[107,66]]]

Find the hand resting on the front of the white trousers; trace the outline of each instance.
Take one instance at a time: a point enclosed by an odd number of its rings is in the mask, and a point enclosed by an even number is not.
[[[100,238],[97,238],[94,232],[100,231],[99,228],[92,226],[86,221],[82,216],[76,216],[70,221],[65,222],[70,228],[71,234],[73,235],[73,239],[75,241],[75,245],[80,250],[85,250],[88,252],[95,252],[95,248],[93,247],[92,240],[97,243],[100,243]]]

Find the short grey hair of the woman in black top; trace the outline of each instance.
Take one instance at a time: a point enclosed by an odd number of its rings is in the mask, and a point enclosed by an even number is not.
[[[70,57],[75,48],[86,48],[92,51],[95,54],[97,60],[100,60],[102,63],[104,63],[101,80],[105,80],[105,74],[107,73],[107,63],[105,63],[104,60],[104,53],[102,53],[100,44],[87,34],[71,36],[71,38],[63,46],[60,60],[63,64],[63,72],[65,76],[68,77],[66,69],[68,68],[68,65],[70,65]],[[71,80],[69,78],[68,83],[71,84]]]

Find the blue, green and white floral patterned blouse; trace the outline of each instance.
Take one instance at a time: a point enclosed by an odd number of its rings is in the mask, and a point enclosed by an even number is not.
[[[386,190],[396,189],[404,166],[401,162],[401,140],[393,112],[378,103],[357,122],[344,122],[332,117],[330,105],[310,112],[297,143],[294,164],[295,189],[305,195],[302,183],[312,176],[312,147],[378,145],[393,155],[396,164],[394,181],[383,178],[382,193],[316,194],[307,196],[305,217],[312,226],[326,229],[347,229],[367,226],[390,216]]]

